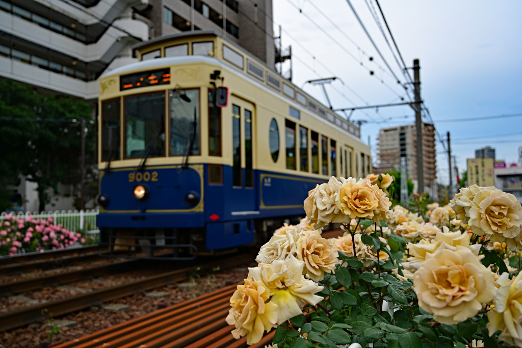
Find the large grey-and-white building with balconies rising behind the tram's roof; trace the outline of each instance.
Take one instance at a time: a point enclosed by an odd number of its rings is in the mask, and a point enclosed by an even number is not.
[[[271,18],[271,0],[0,0],[0,78],[94,104],[104,71],[137,62],[133,44],[208,29],[274,66]]]

